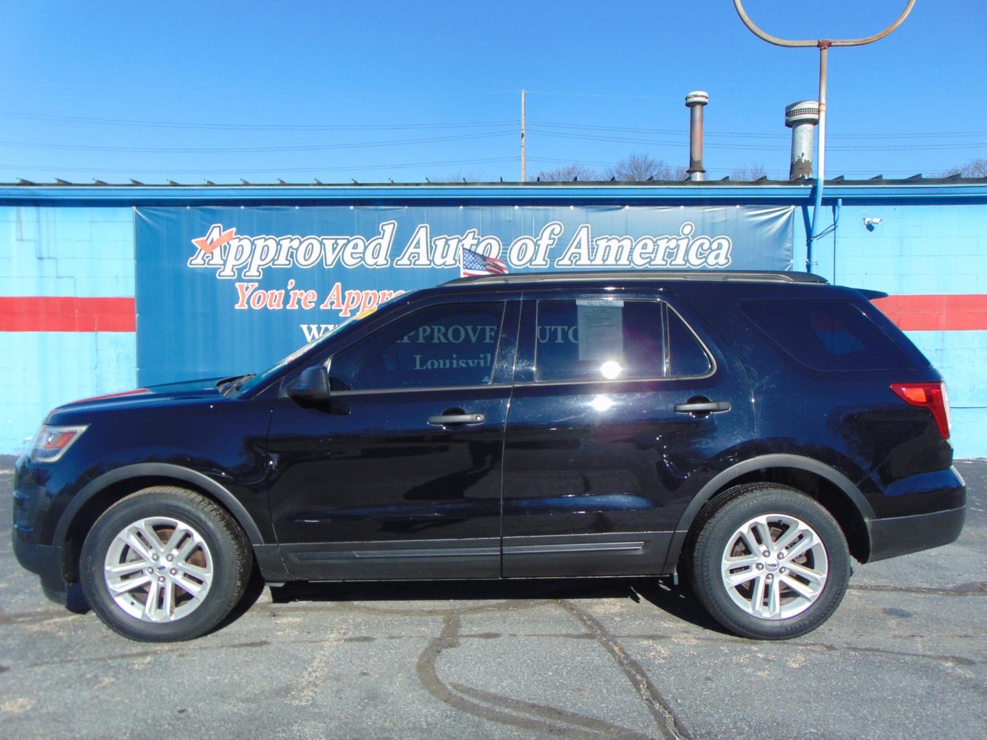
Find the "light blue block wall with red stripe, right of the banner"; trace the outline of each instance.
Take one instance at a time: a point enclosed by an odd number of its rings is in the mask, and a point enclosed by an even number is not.
[[[801,219],[795,239],[800,270]],[[987,205],[844,206],[813,252],[813,271],[833,282],[910,299],[892,318],[946,378],[956,456],[987,457],[987,331],[966,328],[987,327]]]

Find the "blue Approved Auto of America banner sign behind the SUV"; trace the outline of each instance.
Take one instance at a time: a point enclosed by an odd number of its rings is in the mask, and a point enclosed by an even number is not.
[[[136,209],[141,385],[259,372],[461,274],[792,268],[795,206]]]

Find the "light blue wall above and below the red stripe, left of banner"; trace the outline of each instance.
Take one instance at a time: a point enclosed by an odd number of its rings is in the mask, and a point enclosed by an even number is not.
[[[0,205],[0,296],[134,294],[129,207]],[[132,332],[0,332],[0,454],[16,454],[50,408],[132,388]]]

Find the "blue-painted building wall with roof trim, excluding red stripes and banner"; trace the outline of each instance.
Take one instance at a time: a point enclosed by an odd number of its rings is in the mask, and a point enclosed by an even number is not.
[[[807,185],[489,187],[24,187],[0,186],[0,297],[134,295],[134,204],[416,202],[794,203]],[[829,188],[813,271],[892,295],[987,294],[987,185]],[[880,218],[873,230],[865,218]],[[795,267],[805,263],[796,220]],[[908,332],[943,372],[958,457],[987,457],[987,331]],[[51,407],[136,385],[127,332],[0,332],[0,453],[17,452]]]

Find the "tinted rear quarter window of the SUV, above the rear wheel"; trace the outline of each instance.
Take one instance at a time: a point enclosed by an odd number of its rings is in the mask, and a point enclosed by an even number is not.
[[[912,366],[894,340],[854,301],[763,301],[741,305],[762,332],[813,370]]]

